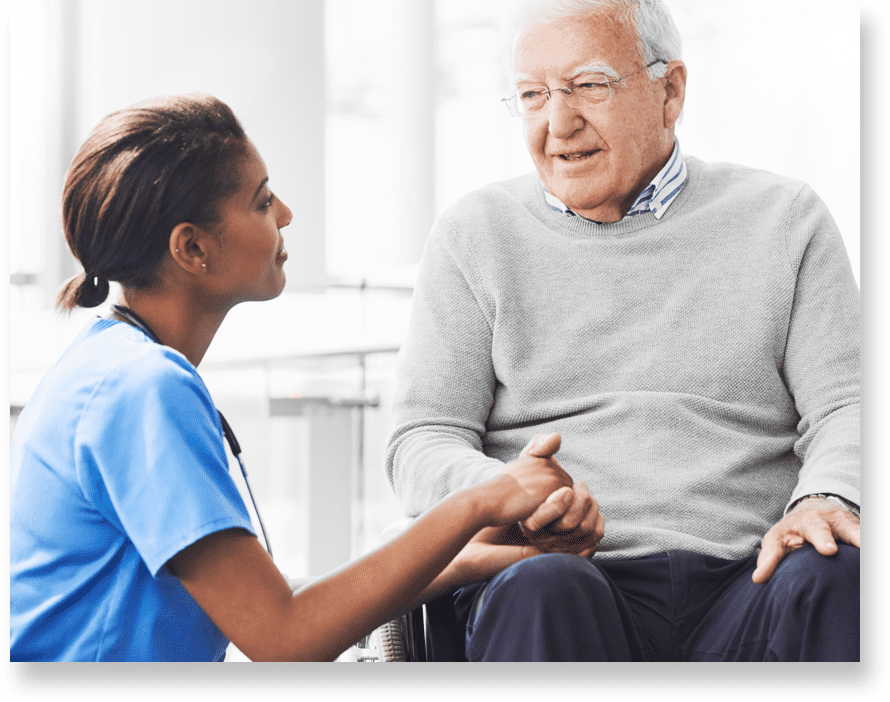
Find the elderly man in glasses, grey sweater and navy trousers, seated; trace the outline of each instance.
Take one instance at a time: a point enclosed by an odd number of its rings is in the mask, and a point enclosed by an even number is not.
[[[859,660],[859,291],[837,227],[802,182],[683,156],[661,2],[533,5],[506,102],[537,172],[436,223],[387,450],[415,515],[535,434],[563,442],[563,517],[483,539],[541,555],[455,594],[467,657]]]

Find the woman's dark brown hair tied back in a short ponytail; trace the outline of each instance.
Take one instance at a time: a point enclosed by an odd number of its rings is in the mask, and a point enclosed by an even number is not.
[[[84,272],[62,286],[58,307],[101,305],[110,280],[136,290],[157,284],[177,224],[219,234],[246,144],[232,110],[202,93],[146,100],[103,119],[65,174],[62,227]]]

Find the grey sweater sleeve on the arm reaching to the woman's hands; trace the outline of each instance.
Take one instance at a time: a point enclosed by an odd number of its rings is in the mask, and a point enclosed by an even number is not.
[[[463,248],[447,222],[434,226],[399,352],[385,466],[410,517],[504,465],[482,452],[496,384],[494,314]]]

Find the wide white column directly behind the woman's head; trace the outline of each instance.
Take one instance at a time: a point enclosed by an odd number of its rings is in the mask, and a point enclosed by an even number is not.
[[[215,95],[294,212],[299,255],[288,283],[323,272],[323,0],[81,0],[81,8],[78,143],[105,115],[145,98]]]

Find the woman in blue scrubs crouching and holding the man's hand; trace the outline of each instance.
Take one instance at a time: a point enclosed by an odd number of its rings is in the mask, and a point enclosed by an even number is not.
[[[75,155],[62,218],[84,273],[60,308],[102,304],[113,280],[124,314],[86,324],[17,425],[11,660],[219,661],[230,640],[253,660],[332,660],[421,602],[540,555],[511,539],[517,521],[570,516],[560,437],[536,437],[499,475],[292,592],[229,477],[197,372],[233,306],[284,289],[292,213],[253,143],[209,95],[121,110]]]

